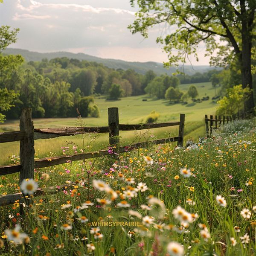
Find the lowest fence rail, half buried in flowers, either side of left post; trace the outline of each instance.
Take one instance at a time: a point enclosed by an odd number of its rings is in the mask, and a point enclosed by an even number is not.
[[[70,184],[61,185],[59,189],[56,189],[55,186],[47,187],[44,189],[38,188],[33,196],[36,197],[39,195],[45,195],[46,193],[47,195],[54,195],[58,192],[61,192],[62,189],[66,189],[66,187],[67,189],[70,189],[71,187],[73,187],[73,185],[76,185],[76,183],[72,182]],[[24,201],[22,193],[2,195],[0,196],[0,207],[14,204],[17,200],[19,200],[19,203],[22,203]]]

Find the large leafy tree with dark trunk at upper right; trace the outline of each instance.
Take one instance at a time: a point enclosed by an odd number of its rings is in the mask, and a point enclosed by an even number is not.
[[[218,49],[217,57],[211,57],[211,64],[227,65],[238,61],[243,88],[253,88],[255,0],[131,0],[133,6],[135,2],[139,11],[137,19],[129,26],[132,33],[140,32],[147,37],[148,28],[160,23],[173,31],[157,38],[168,53],[168,64],[186,62],[191,54],[198,58],[198,45],[205,42],[209,55]],[[177,50],[176,54],[173,50]],[[254,107],[253,91],[245,107]]]

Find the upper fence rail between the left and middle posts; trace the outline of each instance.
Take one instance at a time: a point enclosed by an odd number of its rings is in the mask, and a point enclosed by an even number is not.
[[[100,127],[62,127],[62,128],[45,128],[35,129],[35,140],[50,139],[60,136],[70,136],[85,133],[107,133],[109,132],[108,126]]]

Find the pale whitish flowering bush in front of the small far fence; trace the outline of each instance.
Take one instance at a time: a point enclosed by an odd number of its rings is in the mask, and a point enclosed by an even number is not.
[[[214,136],[249,133],[256,126],[256,118],[241,119],[221,125],[213,132]]]

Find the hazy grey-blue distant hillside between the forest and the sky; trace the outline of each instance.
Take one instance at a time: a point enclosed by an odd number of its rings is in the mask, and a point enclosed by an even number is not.
[[[95,61],[97,63],[102,63],[106,67],[113,68],[113,69],[133,69],[138,73],[145,74],[148,70],[153,70],[157,75],[165,74],[171,75],[172,73],[176,72],[176,67],[171,67],[166,69],[163,67],[162,63],[157,63],[153,61],[149,62],[129,62],[129,61],[122,61],[122,60],[115,60],[115,59],[105,59],[105,58],[98,58],[91,55],[87,55],[84,53],[72,53],[72,52],[30,52],[28,50],[23,49],[15,49],[15,48],[7,48],[3,51],[4,54],[20,54],[22,55],[26,61],[41,61],[43,58],[47,58],[48,60],[52,58],[76,58],[86,61]],[[209,69],[213,69],[213,67],[209,66],[191,66],[191,65],[184,65],[184,67],[180,68],[180,71],[184,72],[187,75],[192,75],[196,72],[206,72]]]

